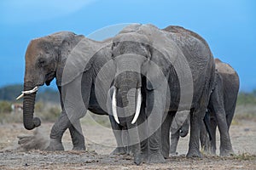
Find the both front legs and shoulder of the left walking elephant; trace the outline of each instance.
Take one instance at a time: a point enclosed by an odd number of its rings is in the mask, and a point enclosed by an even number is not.
[[[58,87],[61,94],[62,112],[51,129],[50,143],[47,150],[64,150],[61,138],[67,128],[70,128],[74,149],[85,149],[84,136],[79,119],[84,116],[89,105],[90,90],[88,89],[90,89],[91,81],[86,84],[86,87],[81,88],[81,84],[84,84],[83,78],[77,77],[66,86]]]

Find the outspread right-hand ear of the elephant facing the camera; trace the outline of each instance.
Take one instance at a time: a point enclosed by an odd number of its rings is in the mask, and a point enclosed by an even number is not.
[[[160,31],[155,26],[143,25],[137,31],[146,35],[150,40],[148,44],[148,62],[144,65],[143,74],[147,77],[147,88],[153,90],[167,82],[172,64],[177,59],[180,51],[177,44],[172,41],[165,31]]]

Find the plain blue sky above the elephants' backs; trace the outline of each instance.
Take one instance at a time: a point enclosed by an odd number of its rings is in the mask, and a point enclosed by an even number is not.
[[[90,35],[122,23],[177,25],[204,37],[215,57],[232,65],[241,90],[256,88],[254,0],[1,0],[0,87],[22,83],[30,40],[56,31]]]

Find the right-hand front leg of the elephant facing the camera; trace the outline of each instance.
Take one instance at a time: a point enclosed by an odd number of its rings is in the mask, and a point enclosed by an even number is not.
[[[148,163],[166,162],[161,153],[161,123],[166,103],[161,94],[157,90],[147,92]]]

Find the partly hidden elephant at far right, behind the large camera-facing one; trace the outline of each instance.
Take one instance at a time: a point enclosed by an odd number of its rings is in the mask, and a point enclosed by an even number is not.
[[[237,72],[228,64],[220,59],[215,59],[215,85],[207,107],[209,116],[209,130],[212,139],[205,138],[206,131],[202,129],[201,145],[207,152],[216,155],[216,127],[220,133],[220,156],[229,156],[234,154],[230,141],[230,124],[236,110],[236,99],[239,91],[239,77]],[[189,118],[188,118],[189,119]],[[189,122],[186,120],[181,127],[184,133],[189,131]],[[172,134],[170,153],[176,152],[178,133]],[[204,139],[205,138],[205,139]],[[208,140],[208,141],[207,141]]]

